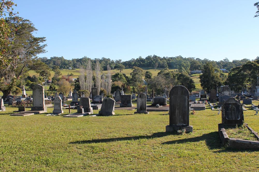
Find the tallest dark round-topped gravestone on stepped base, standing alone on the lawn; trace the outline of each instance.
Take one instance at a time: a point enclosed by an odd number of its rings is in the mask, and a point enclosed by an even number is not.
[[[169,125],[166,132],[185,129],[192,132],[189,125],[189,91],[182,85],[174,86],[169,94]]]

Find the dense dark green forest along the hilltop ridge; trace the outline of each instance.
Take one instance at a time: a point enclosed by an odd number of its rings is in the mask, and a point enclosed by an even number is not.
[[[48,58],[40,58],[40,60],[44,63],[46,63],[50,68],[53,66],[59,66],[60,69],[68,69],[69,67],[72,68],[80,68],[81,66],[87,66],[88,63],[87,56],[84,56],[81,59],[72,59],[67,60],[64,59],[63,56],[61,57],[51,57]],[[259,59],[259,56],[257,56],[256,59]],[[208,59],[199,59],[199,58],[183,58],[182,56],[176,56],[176,57],[160,57],[157,55],[149,55],[146,58],[142,58],[139,56],[137,59],[131,59],[128,61],[122,61],[122,60],[111,60],[107,58],[101,58],[101,59],[90,59],[92,61],[92,64],[96,63],[96,60],[98,60],[101,64],[101,67],[103,70],[107,70],[107,65],[109,64],[112,69],[119,69],[119,68],[127,68],[127,67],[154,67],[154,68],[169,68],[169,69],[179,69],[179,70],[185,70],[185,71],[192,71],[192,70],[202,70],[202,66],[205,62],[210,61]],[[233,60],[232,62],[229,61],[227,58],[220,61],[211,61],[213,62],[215,67],[218,67],[219,69],[226,69],[230,70],[233,67],[241,66],[242,64],[245,64],[247,61],[250,61],[249,59],[242,59],[242,60]],[[94,68],[94,65],[92,65]]]

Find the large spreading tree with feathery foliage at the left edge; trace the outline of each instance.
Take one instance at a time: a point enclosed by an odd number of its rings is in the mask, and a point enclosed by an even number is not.
[[[29,20],[13,17],[6,20],[11,34],[13,44],[8,45],[5,57],[11,56],[12,61],[8,66],[0,65],[0,91],[3,92],[3,99],[16,89],[16,80],[30,70],[44,71],[46,65],[37,59],[37,55],[44,53],[46,44],[45,37],[35,37],[33,33],[37,31],[33,23]]]

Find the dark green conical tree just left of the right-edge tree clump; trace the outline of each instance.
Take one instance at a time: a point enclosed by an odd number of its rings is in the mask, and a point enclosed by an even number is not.
[[[212,62],[206,62],[203,66],[203,74],[199,77],[200,85],[207,92],[222,85],[219,73],[215,73],[215,70],[217,69],[213,67]]]

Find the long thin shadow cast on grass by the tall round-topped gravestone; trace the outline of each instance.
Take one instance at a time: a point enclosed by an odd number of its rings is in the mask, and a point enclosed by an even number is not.
[[[151,138],[164,137],[172,134],[176,134],[176,133],[158,132],[158,133],[153,133],[150,136],[129,136],[129,137],[117,137],[117,138],[104,138],[104,139],[96,139],[96,140],[82,140],[82,141],[70,142],[69,144],[106,143],[106,142],[116,142],[116,141],[126,141],[126,140],[139,140],[143,138],[151,139]]]

